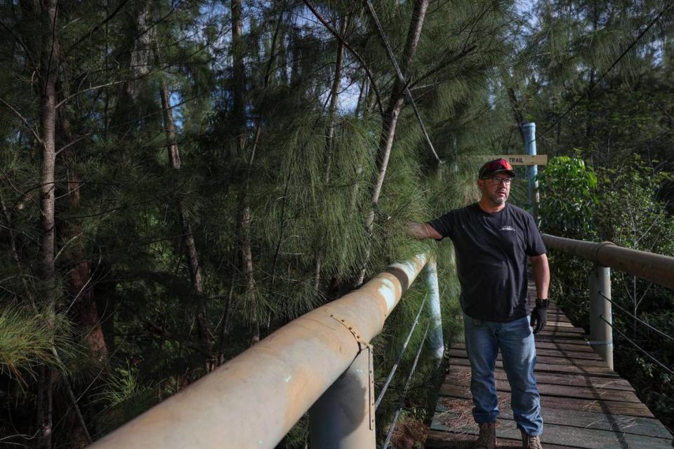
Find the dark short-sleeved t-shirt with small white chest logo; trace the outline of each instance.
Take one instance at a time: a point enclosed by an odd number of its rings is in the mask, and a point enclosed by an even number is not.
[[[527,316],[527,257],[546,253],[534,218],[505,203],[487,213],[477,203],[428,222],[454,242],[461,308],[485,321]]]

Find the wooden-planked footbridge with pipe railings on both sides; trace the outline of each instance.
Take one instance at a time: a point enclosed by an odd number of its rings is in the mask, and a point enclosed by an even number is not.
[[[546,422],[545,447],[671,449],[671,434],[639,401],[630,384],[613,370],[614,303],[609,267],[674,289],[674,257],[620,248],[608,242],[546,235],[543,241],[548,248],[595,264],[588,279],[589,337],[555,305],[550,309],[548,326],[536,335],[536,376]],[[387,318],[418,277],[428,285],[423,302],[428,304],[428,316],[414,363],[408,373],[396,372],[423,305],[387,380],[376,387],[370,342],[381,333]],[[534,295],[534,286],[530,285],[529,301],[534,300]],[[470,448],[477,431],[470,411],[470,367],[461,342],[451,342],[445,348],[441,321],[435,261],[420,254],[392,264],[361,288],[291,321],[92,447],[275,449],[307,415],[311,449],[394,448],[392,434],[425,349],[425,354],[436,361],[449,351],[449,370],[440,389],[426,447]],[[671,366],[646,355],[659,369],[674,375]],[[497,367],[501,401],[499,447],[521,447],[500,361]],[[402,394],[396,391],[399,408],[392,422],[381,422],[376,410],[394,376],[407,380]],[[378,427],[387,431],[378,432]]]

